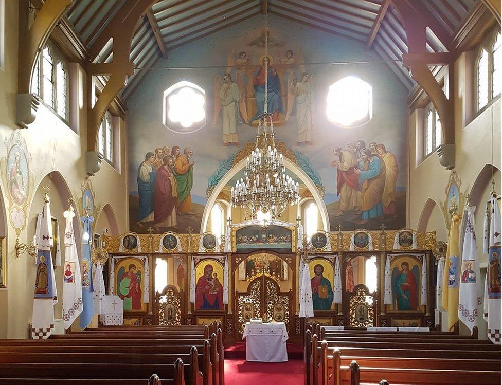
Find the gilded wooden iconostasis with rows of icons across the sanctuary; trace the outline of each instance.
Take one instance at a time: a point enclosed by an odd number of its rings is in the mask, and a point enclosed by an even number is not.
[[[104,237],[109,294],[124,299],[126,324],[221,322],[225,341],[251,318],[284,322],[298,341],[300,264],[308,251],[314,317],[324,325],[434,327],[434,232],[318,231],[297,242],[292,224],[249,221],[221,239],[204,234]],[[229,241],[229,245],[225,244]],[[442,250],[442,251],[441,251]]]

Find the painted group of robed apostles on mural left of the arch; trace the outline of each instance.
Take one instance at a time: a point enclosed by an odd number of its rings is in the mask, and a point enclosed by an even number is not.
[[[138,227],[153,225],[156,232],[168,228],[178,230],[179,216],[193,214],[193,154],[191,146],[181,154],[177,145],[147,152],[137,174]]]

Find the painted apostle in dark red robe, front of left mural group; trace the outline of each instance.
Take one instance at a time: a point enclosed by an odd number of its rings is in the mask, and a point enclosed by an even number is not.
[[[176,226],[176,203],[178,191],[174,178],[174,157],[166,155],[155,176],[154,222],[155,228]]]

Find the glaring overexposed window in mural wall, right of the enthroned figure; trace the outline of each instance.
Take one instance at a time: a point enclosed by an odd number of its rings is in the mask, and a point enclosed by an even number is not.
[[[373,87],[364,80],[348,76],[328,89],[326,115],[342,127],[357,127],[373,116]]]

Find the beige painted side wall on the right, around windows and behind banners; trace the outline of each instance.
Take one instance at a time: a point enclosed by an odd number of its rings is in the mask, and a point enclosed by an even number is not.
[[[476,205],[475,231],[477,234],[477,258],[486,266],[487,255],[482,254],[482,227],[486,201],[491,190],[491,180],[495,190],[502,193],[500,180],[501,168],[501,106],[500,96],[495,97],[479,113],[474,111],[474,52],[464,52],[455,63],[454,108],[455,108],[455,171],[461,179],[460,192],[471,194],[471,204]],[[446,186],[451,172],[439,164],[434,153],[419,162],[418,151],[423,135],[423,111],[417,109],[410,114],[410,152],[409,152],[409,205],[408,225],[411,228],[436,230],[437,239],[447,241],[448,232],[440,205],[446,200]],[[492,144],[493,141],[493,144]],[[493,145],[493,154],[492,154]],[[492,160],[493,159],[493,160]],[[491,167],[493,164],[493,177]],[[497,170],[498,169],[498,170]],[[462,212],[462,208],[459,209]],[[430,215],[430,216],[429,216]],[[463,221],[462,227],[463,229]],[[462,230],[461,230],[462,232]],[[462,238],[462,235],[461,235]],[[481,270],[484,282],[486,268]],[[456,310],[455,310],[456,311]],[[443,314],[443,321],[445,320]],[[443,322],[443,325],[445,322]],[[480,338],[486,338],[486,322],[478,319]],[[461,325],[460,331],[468,329]]]

